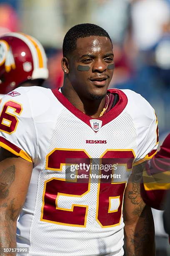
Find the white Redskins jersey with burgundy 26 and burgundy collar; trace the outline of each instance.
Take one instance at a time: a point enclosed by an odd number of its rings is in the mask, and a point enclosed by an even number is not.
[[[124,254],[125,187],[133,164],[155,153],[158,122],[141,95],[110,92],[117,104],[96,119],[58,90],[19,87],[1,100],[0,146],[33,162],[17,223],[29,255]]]

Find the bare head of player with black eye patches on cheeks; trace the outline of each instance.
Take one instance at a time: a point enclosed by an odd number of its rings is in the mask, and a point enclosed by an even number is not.
[[[66,33],[62,59],[64,86],[70,84],[80,97],[104,97],[112,79],[113,64],[112,42],[103,28],[79,24]]]

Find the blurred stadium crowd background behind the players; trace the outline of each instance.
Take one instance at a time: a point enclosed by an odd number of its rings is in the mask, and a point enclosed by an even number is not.
[[[78,23],[95,23],[110,34],[115,55],[110,88],[134,90],[150,102],[161,144],[170,132],[170,0],[0,0],[0,35],[28,33],[45,47],[45,87],[62,86],[63,37]],[[157,256],[169,256],[162,212],[153,214]]]

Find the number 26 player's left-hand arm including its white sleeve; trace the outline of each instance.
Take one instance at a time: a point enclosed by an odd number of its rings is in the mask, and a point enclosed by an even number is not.
[[[22,88],[17,92],[16,97],[6,95],[0,103],[0,255],[6,255],[4,248],[16,248],[16,222],[36,160],[29,102]]]

